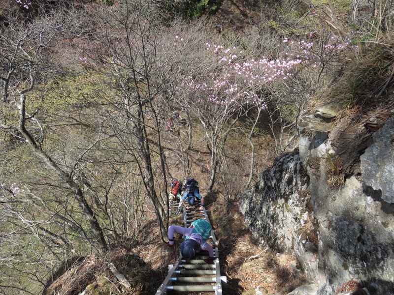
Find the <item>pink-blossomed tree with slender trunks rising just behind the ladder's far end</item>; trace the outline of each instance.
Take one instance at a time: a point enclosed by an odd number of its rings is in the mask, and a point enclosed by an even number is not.
[[[209,65],[188,77],[177,95],[183,97],[185,105],[197,111],[196,119],[203,125],[210,143],[209,192],[218,164],[226,163],[223,150],[229,132],[245,111],[266,109],[267,89],[289,79],[292,68],[301,59],[251,59],[234,46],[225,48],[209,42],[203,50]]]

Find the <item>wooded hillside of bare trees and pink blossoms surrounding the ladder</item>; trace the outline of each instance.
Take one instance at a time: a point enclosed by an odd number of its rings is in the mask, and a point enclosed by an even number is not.
[[[317,106],[369,112],[371,132],[393,115],[393,6],[2,1],[0,294],[153,294],[177,256],[168,184],[189,177],[228,294],[307,284],[294,257],[250,234],[238,201],[298,147]],[[359,174],[350,135],[336,142],[350,164],[333,161],[334,187]]]

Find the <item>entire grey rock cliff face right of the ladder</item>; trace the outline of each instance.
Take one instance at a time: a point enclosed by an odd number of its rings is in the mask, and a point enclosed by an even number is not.
[[[394,117],[349,135],[326,113],[303,121],[309,136],[261,173],[239,210],[262,243],[296,257],[317,295],[348,293],[349,282],[394,294]]]

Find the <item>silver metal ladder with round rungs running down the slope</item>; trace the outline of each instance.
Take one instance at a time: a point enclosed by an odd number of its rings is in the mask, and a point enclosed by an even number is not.
[[[175,205],[176,206],[176,205]],[[190,227],[193,221],[205,219],[209,221],[205,208],[198,210],[200,204],[184,208],[183,220],[185,227]],[[173,207],[172,207],[173,208]],[[214,230],[211,231],[212,245],[214,247],[214,263],[207,264],[208,252],[197,252],[194,259],[185,260],[179,255],[175,264],[168,265],[168,274],[156,292],[156,295],[164,295],[169,292],[214,292],[222,295],[226,287],[227,278],[220,274],[218,242]]]

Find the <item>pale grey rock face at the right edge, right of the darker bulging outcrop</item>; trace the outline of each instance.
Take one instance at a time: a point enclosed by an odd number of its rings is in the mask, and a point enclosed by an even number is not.
[[[394,182],[384,179],[394,165],[394,146],[389,144],[393,123],[394,118],[388,119],[373,135],[374,143],[360,158],[361,177],[349,177],[340,189],[329,187],[324,160],[320,170],[309,169],[311,201],[320,225],[319,268],[326,276],[319,295],[335,294],[350,280],[376,294],[393,294],[394,207],[387,202],[389,196],[382,198],[381,189],[393,191]]]

